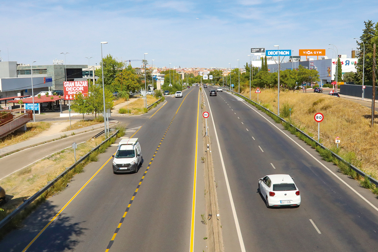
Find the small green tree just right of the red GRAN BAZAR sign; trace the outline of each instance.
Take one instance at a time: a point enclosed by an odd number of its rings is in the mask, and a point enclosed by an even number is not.
[[[92,85],[90,87],[90,95],[87,98],[88,104],[90,104],[90,112],[97,114],[104,111],[102,87],[100,85]],[[105,87],[105,109],[111,109],[113,107],[113,94]]]

